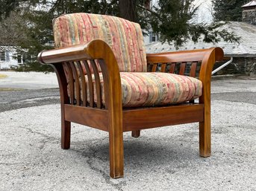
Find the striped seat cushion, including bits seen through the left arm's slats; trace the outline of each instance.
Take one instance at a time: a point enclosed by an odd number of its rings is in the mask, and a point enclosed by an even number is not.
[[[193,77],[160,72],[121,72],[120,76],[124,108],[184,103],[202,95],[202,82]],[[100,78],[104,93],[102,74]],[[93,84],[96,102],[96,88],[95,83]],[[88,87],[87,97],[89,101]],[[102,100],[104,105],[104,94],[102,94]]]

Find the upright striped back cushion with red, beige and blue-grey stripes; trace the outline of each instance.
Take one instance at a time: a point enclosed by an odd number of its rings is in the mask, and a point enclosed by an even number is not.
[[[116,56],[119,71],[146,71],[146,51],[140,25],[116,16],[72,13],[54,20],[57,48],[102,39]]]

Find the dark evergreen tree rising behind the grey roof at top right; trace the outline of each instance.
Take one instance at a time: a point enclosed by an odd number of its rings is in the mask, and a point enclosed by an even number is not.
[[[248,0],[212,0],[213,17],[219,21],[242,21],[242,6]]]

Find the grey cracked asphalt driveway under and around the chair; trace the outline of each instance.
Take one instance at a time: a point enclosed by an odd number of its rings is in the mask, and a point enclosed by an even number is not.
[[[0,190],[256,190],[256,80],[212,86],[210,158],[199,157],[197,123],[125,133],[125,178],[113,180],[106,132],[72,123],[71,149],[60,149],[57,88],[4,91],[0,80]],[[18,91],[30,97],[2,101]]]

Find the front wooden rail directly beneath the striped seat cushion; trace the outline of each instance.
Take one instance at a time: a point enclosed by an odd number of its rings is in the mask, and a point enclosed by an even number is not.
[[[171,126],[204,120],[203,104],[158,107],[149,109],[130,109],[123,111],[124,132]]]

